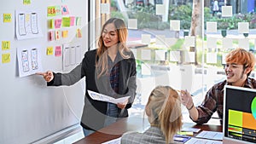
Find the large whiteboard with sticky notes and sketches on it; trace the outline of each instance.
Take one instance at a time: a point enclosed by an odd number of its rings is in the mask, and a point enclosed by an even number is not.
[[[82,0],[46,0],[31,1],[24,4],[23,0],[4,1],[0,6],[0,41],[8,41],[9,49],[1,49],[0,62],[0,143],[33,143],[61,130],[79,124],[84,106],[84,79],[73,86],[47,87],[44,79],[38,75],[19,77],[16,49],[19,47],[40,49],[42,71],[69,72],[78,63],[71,63],[63,68],[63,55],[46,55],[48,47],[64,43],[79,43],[79,58],[82,59],[88,49],[88,2]],[[49,6],[66,5],[69,14],[81,18],[80,26],[61,27],[67,30],[68,36],[59,40],[49,41],[49,19],[57,19],[63,15],[47,16]],[[35,10],[41,37],[17,39],[15,37],[15,11]],[[3,22],[3,14],[11,14],[10,22]],[[81,30],[82,37],[76,37],[76,30]],[[3,63],[3,55],[9,54],[9,62]],[[65,61],[65,60],[64,60]]]

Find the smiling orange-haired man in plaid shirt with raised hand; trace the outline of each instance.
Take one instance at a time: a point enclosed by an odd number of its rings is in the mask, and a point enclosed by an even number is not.
[[[223,119],[224,85],[234,85],[250,89],[256,88],[256,80],[248,78],[253,71],[255,57],[245,49],[234,49],[225,58],[224,71],[226,79],[214,84],[207,91],[205,100],[200,106],[195,107],[193,99],[187,90],[181,91],[182,103],[189,110],[189,117],[196,124],[205,124],[212,117],[213,112],[218,112],[218,117]]]

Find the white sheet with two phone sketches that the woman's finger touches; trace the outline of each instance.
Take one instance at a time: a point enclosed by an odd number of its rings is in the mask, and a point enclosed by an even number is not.
[[[35,72],[42,72],[41,58],[37,48],[17,48],[19,77],[32,75]]]

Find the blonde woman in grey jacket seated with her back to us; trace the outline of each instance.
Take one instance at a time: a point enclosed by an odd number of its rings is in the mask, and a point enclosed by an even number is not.
[[[143,133],[127,132],[121,137],[122,144],[179,143],[174,135],[182,127],[181,101],[175,89],[157,86],[148,97],[145,107],[150,127]]]

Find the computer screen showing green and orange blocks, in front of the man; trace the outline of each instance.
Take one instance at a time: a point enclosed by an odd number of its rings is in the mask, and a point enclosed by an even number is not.
[[[256,89],[224,87],[224,143],[256,143]]]

